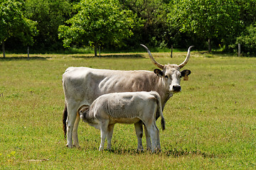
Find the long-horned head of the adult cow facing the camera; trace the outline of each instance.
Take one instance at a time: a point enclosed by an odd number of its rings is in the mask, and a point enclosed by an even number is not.
[[[182,72],[180,69],[184,67],[189,60],[190,57],[190,52],[191,52],[191,47],[188,48],[188,54],[186,56],[186,59],[179,65],[177,64],[166,64],[162,65],[156,60],[154,60],[154,57],[151,55],[151,52],[149,49],[145,46],[142,45],[144,48],[146,48],[146,51],[149,53],[149,58],[151,61],[159,67],[159,69],[154,69],[154,73],[158,76],[161,77],[162,83],[166,88],[169,88],[169,92],[175,93],[181,91],[181,77],[188,77],[189,74],[191,74],[191,71],[188,69],[183,70]]]

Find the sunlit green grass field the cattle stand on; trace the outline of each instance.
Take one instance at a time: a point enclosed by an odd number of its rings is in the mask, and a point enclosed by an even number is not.
[[[180,64],[186,53],[153,55]],[[98,152],[100,131],[80,122],[81,148],[66,148],[61,79],[71,66],[156,68],[146,53],[0,58],[0,169],[256,169],[255,57],[192,52],[189,81],[164,109],[159,154],[136,152],[134,125],[116,125],[112,151]]]

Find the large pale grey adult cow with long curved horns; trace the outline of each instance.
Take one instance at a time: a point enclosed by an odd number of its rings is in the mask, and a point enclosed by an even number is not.
[[[78,108],[82,105],[90,106],[95,99],[103,94],[115,92],[156,91],[161,97],[164,109],[166,102],[175,93],[181,91],[181,77],[187,77],[188,69],[181,71],[190,57],[191,47],[188,48],[186,59],[181,64],[160,64],[154,60],[149,49],[151,61],[159,67],[154,72],[145,70],[123,71],[109,69],[92,69],[87,67],[69,67],[63,74],[63,91],[65,94],[65,108],[63,111],[63,132],[67,137],[67,147],[80,147],[78,142],[78,124],[80,116]],[[159,118],[159,113],[156,113]],[[137,137],[142,143],[142,121],[134,124]],[[149,133],[146,128],[146,147],[151,148]]]

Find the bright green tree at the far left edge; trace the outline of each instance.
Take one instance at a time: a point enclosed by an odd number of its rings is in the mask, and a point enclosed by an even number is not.
[[[5,57],[4,42],[14,36],[21,39],[26,45],[33,45],[33,36],[36,35],[36,22],[25,18],[22,13],[22,4],[19,1],[0,1],[0,42]]]

